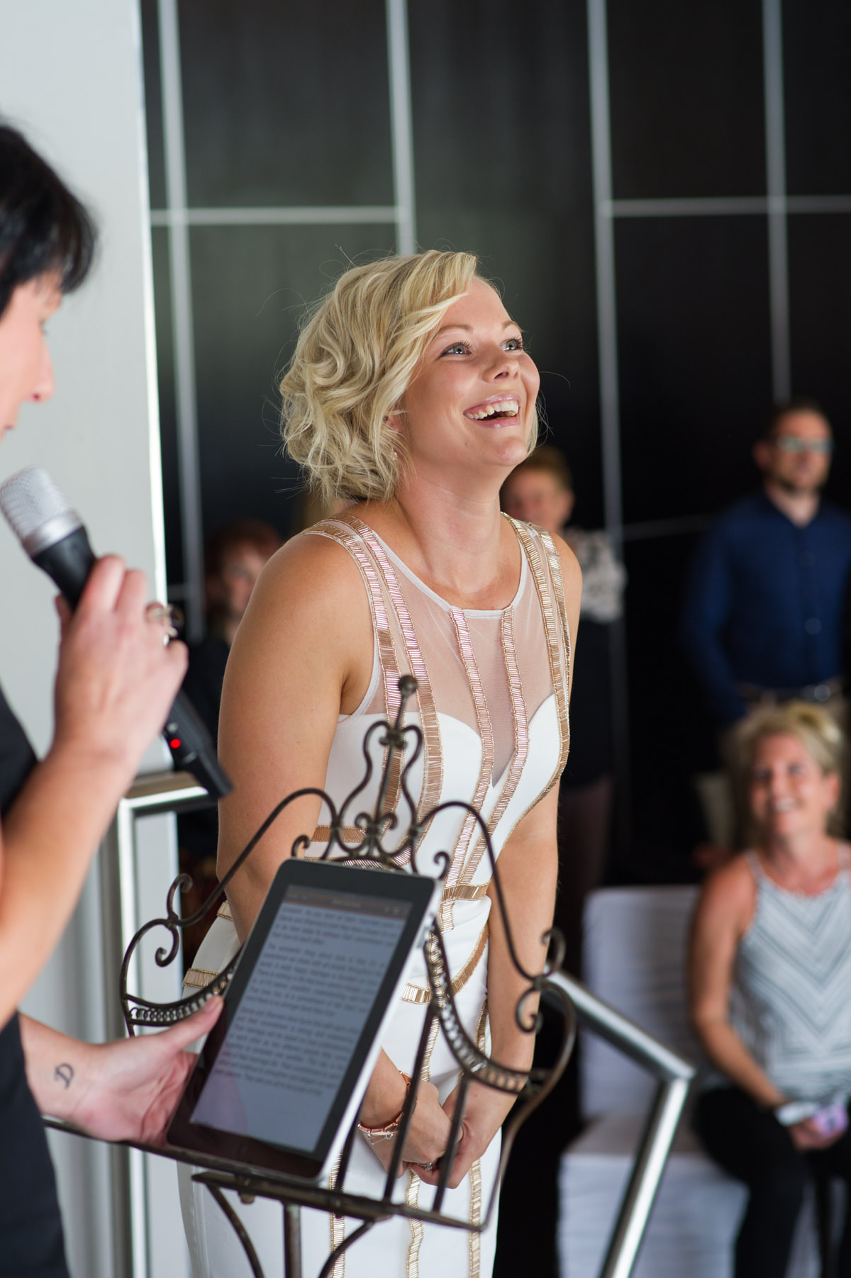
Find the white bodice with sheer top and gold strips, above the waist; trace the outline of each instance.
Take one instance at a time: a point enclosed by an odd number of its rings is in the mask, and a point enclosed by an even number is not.
[[[520,583],[506,608],[456,608],[419,581],[382,539],[355,515],[325,520],[303,535],[328,537],[358,564],[369,597],[376,635],[373,677],[350,716],[341,716],[335,734],[326,790],[340,804],[363,776],[363,739],[372,722],[392,720],[399,708],[399,679],[418,681],[409,703],[408,725],[417,723],[424,748],[406,776],[422,819],[440,804],[473,804],[488,826],[498,855],[523,815],[557,781],[569,748],[567,677],[570,638],[565,616],[558,556],[552,539],[512,520],[521,546]],[[344,815],[351,827],[359,812],[374,805],[383,751],[373,746],[372,783],[356,808]],[[410,812],[399,791],[399,772],[390,785],[388,808],[400,824],[386,841],[396,846]],[[328,814],[319,817],[318,855],[327,840]],[[359,836],[350,831],[348,841]],[[446,851],[448,901],[468,897],[491,878],[484,840],[471,818],[459,809],[440,813],[427,827],[417,851],[417,869],[434,873],[436,854]],[[443,914],[452,925],[452,910]]]

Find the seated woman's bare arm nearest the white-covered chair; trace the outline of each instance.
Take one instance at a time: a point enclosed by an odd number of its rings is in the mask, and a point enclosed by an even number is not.
[[[704,884],[691,927],[689,989],[691,1024],[707,1056],[760,1105],[786,1099],[730,1024],[730,987],[739,942],[754,910],[754,881],[739,856]]]

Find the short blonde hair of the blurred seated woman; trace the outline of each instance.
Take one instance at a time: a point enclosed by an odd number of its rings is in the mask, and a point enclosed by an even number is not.
[[[822,773],[834,773],[842,783],[846,737],[837,721],[811,702],[786,702],[754,711],[737,725],[735,732],[736,764],[745,786],[750,781],[756,745],[767,736],[796,736],[818,763]],[[841,835],[839,799],[828,818],[828,833]]]

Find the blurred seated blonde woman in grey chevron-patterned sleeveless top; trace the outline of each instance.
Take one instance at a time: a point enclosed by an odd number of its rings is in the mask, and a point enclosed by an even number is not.
[[[824,711],[790,702],[742,721],[737,744],[754,840],[707,881],[695,914],[691,1017],[718,1071],[695,1127],[750,1190],[736,1278],[782,1278],[808,1178],[851,1181],[843,737]],[[848,1209],[838,1273],[851,1273]]]

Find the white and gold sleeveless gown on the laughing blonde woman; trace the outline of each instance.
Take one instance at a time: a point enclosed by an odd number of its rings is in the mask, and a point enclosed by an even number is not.
[[[340,716],[325,789],[339,805],[360,781],[364,734],[378,720],[392,721],[400,675],[410,672],[418,691],[409,703],[414,708],[406,713],[406,723],[418,723],[423,731],[423,751],[408,777],[418,812],[427,813],[447,800],[474,804],[487,822],[497,855],[518,822],[557,782],[569,748],[570,636],[558,555],[547,533],[511,523],[523,550],[520,584],[509,607],[488,611],[446,603],[354,514],[325,520],[302,534],[327,537],[351,555],[364,580],[376,636],[369,689],[353,714]],[[345,617],[340,624],[345,625]],[[344,818],[346,826],[359,812],[374,806],[382,763],[378,745],[374,763],[372,785]],[[397,769],[391,777],[387,806],[399,812],[401,838],[410,814],[400,797]],[[328,827],[318,826],[307,855],[319,855],[328,837]],[[344,837],[356,845],[362,835],[346,828]],[[385,845],[394,846],[392,835]],[[491,865],[473,818],[459,809],[438,814],[417,851],[418,872],[436,873],[440,851],[451,852],[440,923],[456,1007],[470,1038],[488,1048]],[[507,906],[510,915],[510,901]],[[236,948],[225,905],[187,983],[204,985]],[[431,997],[422,953],[417,964],[382,1043],[406,1074],[411,1072]],[[441,1100],[457,1081],[457,1066],[440,1030],[432,1035],[424,1077],[438,1088]],[[497,1137],[464,1182],[447,1191],[445,1214],[470,1222],[482,1219],[493,1189],[498,1148]],[[248,1278],[249,1266],[220,1208],[207,1190],[190,1185],[188,1169],[180,1171],[194,1278]],[[382,1194],[383,1181],[383,1167],[358,1136],[345,1189],[376,1197]],[[413,1172],[397,1181],[396,1195],[411,1205],[431,1206],[433,1192]],[[279,1278],[284,1272],[280,1205],[257,1200],[244,1206],[235,1196],[231,1201],[249,1229],[267,1278]],[[332,1246],[358,1223],[302,1210],[304,1278],[317,1278]],[[496,1212],[484,1233],[395,1217],[353,1243],[337,1261],[334,1278],[487,1278],[494,1246]]]

